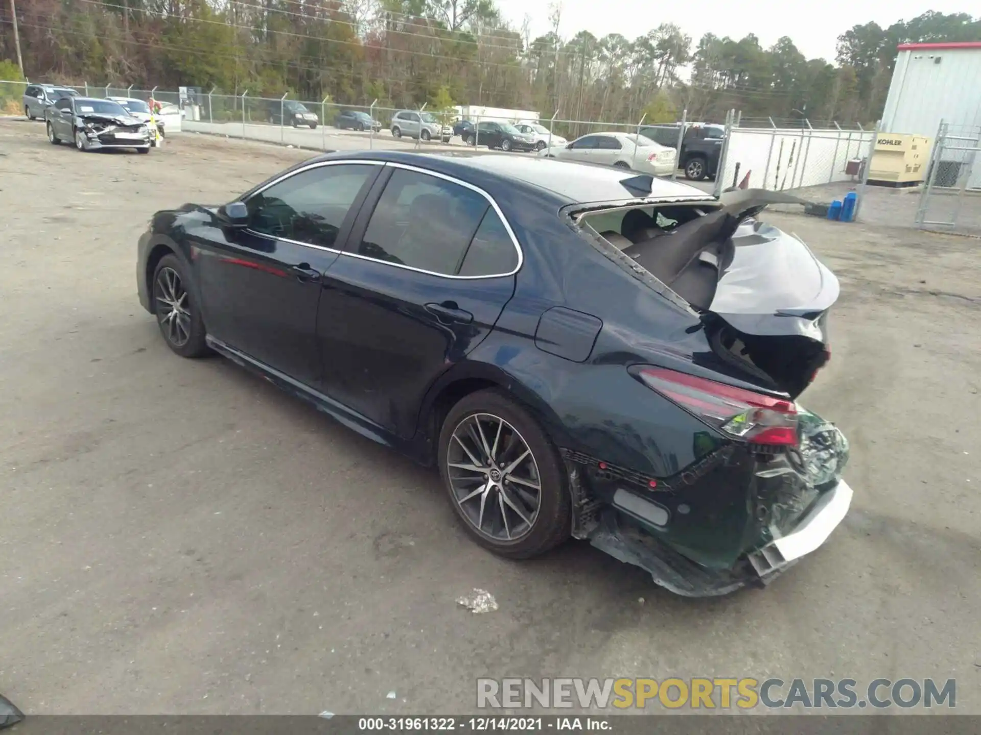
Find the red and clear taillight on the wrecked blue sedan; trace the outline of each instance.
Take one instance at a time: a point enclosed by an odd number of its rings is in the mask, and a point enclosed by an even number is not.
[[[647,387],[734,439],[749,444],[797,446],[797,406],[793,401],[665,368],[638,368],[632,372]]]

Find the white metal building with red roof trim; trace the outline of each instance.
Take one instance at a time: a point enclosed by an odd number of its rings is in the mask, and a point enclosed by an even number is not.
[[[943,121],[951,134],[981,138],[981,41],[898,49],[881,129],[932,140]],[[981,166],[973,167],[967,186],[981,188]]]

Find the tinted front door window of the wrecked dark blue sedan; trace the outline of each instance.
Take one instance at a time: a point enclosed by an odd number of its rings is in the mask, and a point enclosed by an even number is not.
[[[342,164],[294,173],[249,197],[245,202],[249,229],[334,248],[351,205],[377,170],[364,164]]]

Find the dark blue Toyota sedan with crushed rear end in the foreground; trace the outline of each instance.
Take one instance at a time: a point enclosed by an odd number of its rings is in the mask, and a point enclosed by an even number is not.
[[[845,437],[797,403],[838,281],[756,219],[781,198],[336,153],[157,213],[136,278],[174,352],[224,355],[438,466],[497,554],[588,539],[716,595],[816,549],[852,500]]]

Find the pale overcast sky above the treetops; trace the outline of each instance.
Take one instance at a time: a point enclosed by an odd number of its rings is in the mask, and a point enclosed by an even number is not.
[[[527,14],[532,37],[550,30],[549,0],[496,0],[504,18],[520,28]],[[702,34],[715,33],[740,39],[755,33],[767,48],[780,36],[789,35],[808,59],[823,57],[833,62],[838,36],[852,27],[875,21],[887,27],[935,10],[940,13],[969,13],[972,0],[696,0],[655,3],[652,0],[562,0],[559,35],[571,38],[584,28],[597,38],[622,33],[630,40],[662,23],[674,23],[692,36],[693,45]]]

